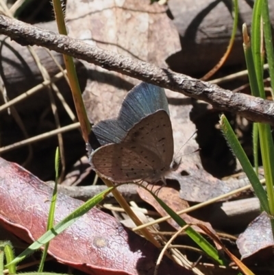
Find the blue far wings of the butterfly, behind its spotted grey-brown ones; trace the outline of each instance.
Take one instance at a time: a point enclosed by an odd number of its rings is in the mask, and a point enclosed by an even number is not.
[[[133,125],[159,109],[169,114],[164,89],[142,82],[127,93],[117,119],[101,121],[92,127],[92,131],[101,145],[121,143]]]

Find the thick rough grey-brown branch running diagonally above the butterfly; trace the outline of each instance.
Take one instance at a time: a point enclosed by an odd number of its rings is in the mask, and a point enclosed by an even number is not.
[[[121,56],[112,51],[91,47],[81,40],[62,36],[45,29],[0,15],[0,34],[10,36],[21,45],[38,45],[74,58],[86,60],[104,69],[116,71],[139,80],[169,88],[195,99],[206,101],[214,108],[237,112],[251,121],[274,125],[273,101],[240,93],[232,93],[187,75],[161,69],[140,60]]]

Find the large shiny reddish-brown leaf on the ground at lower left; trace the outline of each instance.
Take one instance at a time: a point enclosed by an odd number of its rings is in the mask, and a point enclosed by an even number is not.
[[[46,230],[52,189],[15,163],[0,158],[0,222],[15,235],[34,241]],[[55,222],[81,201],[58,194]],[[92,275],[153,274],[160,251],[124,228],[108,214],[92,208],[53,239],[49,254]],[[192,274],[165,258],[158,274]]]

